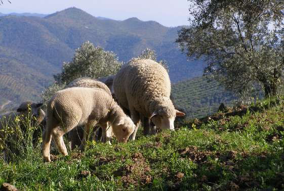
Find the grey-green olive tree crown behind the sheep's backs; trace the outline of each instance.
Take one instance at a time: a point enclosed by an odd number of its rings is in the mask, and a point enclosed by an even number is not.
[[[105,51],[100,46],[94,47],[86,41],[76,49],[72,61],[63,63],[62,72],[54,78],[60,84],[68,84],[80,77],[97,79],[116,74],[121,65],[113,52]]]

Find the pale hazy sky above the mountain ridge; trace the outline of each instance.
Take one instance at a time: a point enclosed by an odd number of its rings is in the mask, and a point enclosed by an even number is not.
[[[95,17],[125,20],[137,17],[165,26],[188,25],[187,0],[3,0],[1,13],[51,14],[70,7],[82,9]]]

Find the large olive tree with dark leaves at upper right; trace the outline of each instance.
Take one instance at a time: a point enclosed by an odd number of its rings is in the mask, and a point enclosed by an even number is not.
[[[260,83],[275,95],[283,80],[284,2],[191,0],[190,28],[177,42],[188,56],[204,58],[205,75],[235,92]]]

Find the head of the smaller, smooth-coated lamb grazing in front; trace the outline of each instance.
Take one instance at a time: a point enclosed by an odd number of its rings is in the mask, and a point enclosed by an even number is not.
[[[112,123],[112,131],[118,142],[126,143],[134,130],[135,124],[128,116],[119,117]]]

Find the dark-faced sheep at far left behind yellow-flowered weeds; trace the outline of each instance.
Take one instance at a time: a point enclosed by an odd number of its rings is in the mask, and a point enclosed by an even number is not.
[[[45,117],[46,117],[45,112],[40,108],[40,106],[42,105],[43,105],[42,103],[34,103],[31,101],[25,101],[15,111],[6,112],[0,115],[0,138],[2,139],[2,141],[4,141],[1,144],[5,144],[5,145],[8,144],[6,149],[10,148],[11,144],[5,143],[5,137],[15,136],[13,134],[7,135],[6,127],[11,128],[12,130],[15,127],[16,120],[20,120],[20,119],[24,119],[25,117],[28,117],[32,119],[31,125],[40,126],[39,129],[36,129],[33,132],[33,136],[32,136],[33,144],[35,143],[36,138],[41,137],[40,134],[44,129]],[[19,121],[19,122],[20,122],[21,131],[24,133],[26,131],[25,129],[26,125],[22,124],[22,121]],[[4,152],[6,152],[5,150]],[[10,148],[10,150],[13,150],[12,152],[16,152],[14,151],[16,150],[16,148],[14,149]]]

